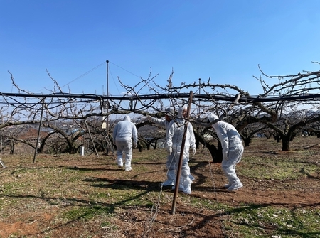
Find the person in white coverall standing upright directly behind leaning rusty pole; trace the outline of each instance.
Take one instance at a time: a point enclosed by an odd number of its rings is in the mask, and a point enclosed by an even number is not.
[[[171,121],[169,125],[169,131],[166,136],[166,149],[168,154],[174,155],[174,160],[176,161],[176,166],[180,159],[181,153],[181,144],[184,134],[184,124],[186,117],[186,107],[181,107],[178,109],[178,117],[176,121]],[[179,190],[182,190],[183,193],[191,194],[191,183],[190,178],[190,167],[188,166],[189,161],[189,150],[190,148],[193,151],[193,154],[196,153],[196,139],[193,133],[193,126],[190,122],[187,124],[186,131],[186,141],[183,148],[183,158],[181,166],[181,177],[179,180]],[[174,188],[174,187],[173,187]]]

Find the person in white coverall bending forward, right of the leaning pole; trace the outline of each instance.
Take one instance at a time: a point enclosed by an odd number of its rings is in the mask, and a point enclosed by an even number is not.
[[[211,113],[208,116],[208,119],[212,122],[217,120],[218,117]],[[235,173],[235,165],[241,161],[243,153],[241,136],[233,125],[225,121],[217,121],[212,124],[212,127],[217,133],[223,150],[221,168],[228,178],[228,184],[225,184],[225,188],[228,188],[228,191],[238,190],[243,187],[240,179]]]

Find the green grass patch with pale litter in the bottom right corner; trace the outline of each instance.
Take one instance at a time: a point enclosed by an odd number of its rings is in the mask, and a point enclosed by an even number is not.
[[[242,237],[319,237],[320,210],[304,207],[294,210],[260,205],[243,205],[226,210],[224,222],[229,234]]]

